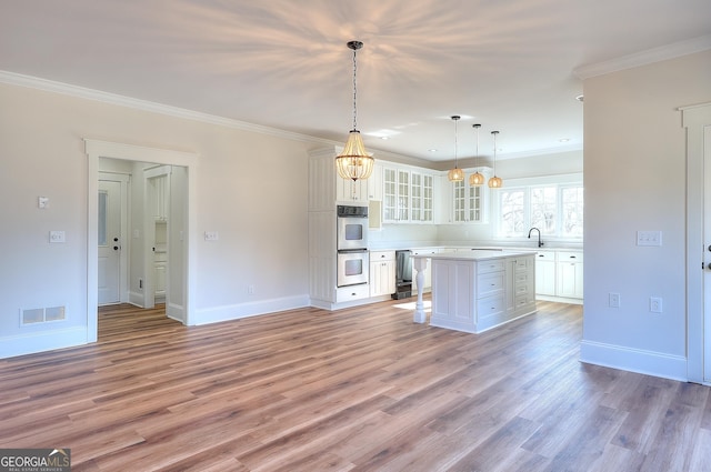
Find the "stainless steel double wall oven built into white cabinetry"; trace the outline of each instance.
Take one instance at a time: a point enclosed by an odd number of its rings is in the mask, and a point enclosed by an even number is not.
[[[368,283],[368,207],[337,207],[337,285]]]

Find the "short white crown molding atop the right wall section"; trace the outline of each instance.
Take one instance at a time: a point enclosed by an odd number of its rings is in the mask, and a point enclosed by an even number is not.
[[[681,56],[693,54],[708,49],[711,49],[711,34],[698,37],[688,41],[674,42],[672,44],[654,49],[648,49],[647,51],[623,56],[609,61],[581,66],[573,69],[573,74],[577,78],[584,80],[591,77],[604,76],[605,73],[618,72],[625,69],[651,64],[653,62],[679,58]]]

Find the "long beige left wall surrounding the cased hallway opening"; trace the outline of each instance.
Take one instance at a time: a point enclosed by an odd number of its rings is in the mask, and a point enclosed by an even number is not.
[[[220,239],[197,241],[194,322],[308,303],[306,164],[322,143],[9,84],[0,103],[0,356],[86,342],[83,138],[199,154],[198,232]],[[67,242],[50,244],[50,230]],[[67,321],[20,327],[20,309],[56,305]]]

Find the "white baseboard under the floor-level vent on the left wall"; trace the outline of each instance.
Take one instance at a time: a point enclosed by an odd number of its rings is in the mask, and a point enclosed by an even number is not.
[[[87,327],[0,338],[0,359],[87,344]]]

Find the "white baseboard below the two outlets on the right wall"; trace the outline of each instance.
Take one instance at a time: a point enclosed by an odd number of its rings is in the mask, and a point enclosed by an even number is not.
[[[580,361],[645,375],[688,381],[687,358],[681,355],[582,341],[580,343]]]

